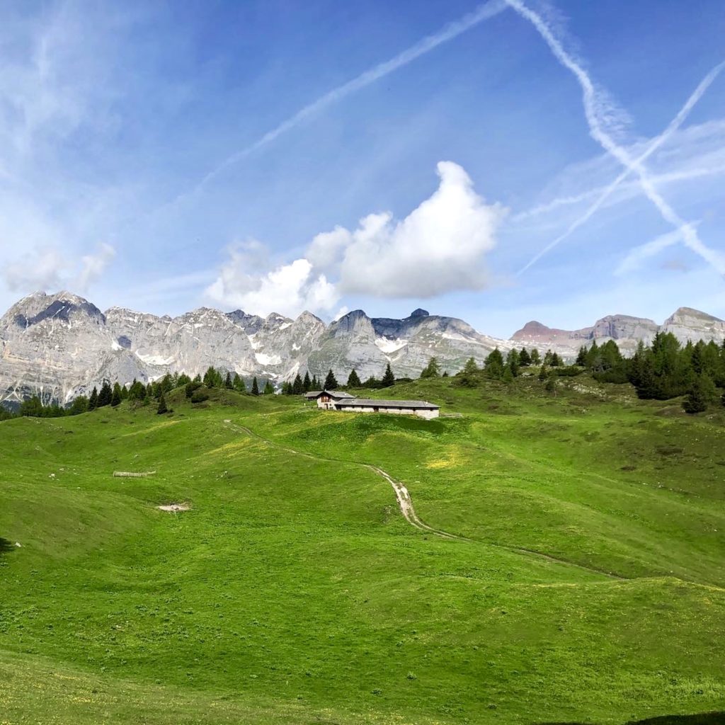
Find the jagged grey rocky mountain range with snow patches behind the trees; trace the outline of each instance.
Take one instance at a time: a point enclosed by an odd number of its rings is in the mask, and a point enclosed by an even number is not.
[[[171,318],[123,307],[101,312],[83,297],[62,291],[24,297],[0,318],[0,402],[10,407],[33,394],[67,403],[104,379],[130,383],[210,366],[243,378],[276,383],[297,373],[344,380],[352,368],[361,379],[380,377],[387,363],[398,377],[418,376],[431,357],[455,373],[473,357],[482,363],[498,347],[550,348],[565,358],[582,344],[614,339],[624,352],[658,331],[681,341],[725,340],[725,322],[681,307],[662,326],[653,320],[610,315],[588,328],[566,331],[526,323],[511,339],[481,334],[463,320],[415,310],[405,319],[370,318],[354,310],[332,323],[311,312],[294,320],[207,307]]]

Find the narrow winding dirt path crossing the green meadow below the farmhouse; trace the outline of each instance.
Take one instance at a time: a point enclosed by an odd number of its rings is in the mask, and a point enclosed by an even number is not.
[[[403,518],[405,518],[405,521],[410,523],[410,526],[414,526],[415,529],[419,529],[420,531],[425,531],[427,534],[435,534],[437,537],[441,537],[442,539],[450,539],[453,541],[485,544],[486,546],[496,547],[497,549],[504,549],[506,551],[513,552],[515,554],[520,554],[520,555],[529,556],[529,557],[535,557],[538,559],[543,559],[545,561],[549,561],[551,563],[562,564],[563,566],[572,566],[574,568],[581,569],[582,571],[588,571],[589,573],[601,574],[602,576],[608,576],[610,579],[620,579],[620,580],[629,579],[629,577],[620,576],[611,571],[604,571],[603,569],[597,569],[597,568],[592,568],[589,566],[584,566],[583,564],[577,564],[573,561],[568,561],[566,559],[558,559],[558,558],[550,556],[548,554],[544,554],[542,552],[534,551],[531,549],[522,549],[520,547],[507,546],[506,544],[494,544],[493,542],[486,542],[483,539],[480,539],[480,540],[479,539],[469,539],[468,537],[458,536],[457,534],[450,534],[448,531],[442,531],[441,529],[435,529],[433,526],[428,526],[427,523],[425,523],[424,521],[421,521],[421,518],[418,516],[417,513],[415,513],[415,508],[413,507],[413,500],[410,498],[410,493],[408,492],[405,485],[402,484],[400,481],[396,481],[396,479],[394,479],[389,473],[384,471],[382,468],[378,468],[378,466],[372,465],[370,463],[361,463],[360,461],[356,461],[356,460],[346,460],[344,458],[331,458],[331,457],[327,457],[327,456],[314,455],[312,453],[305,453],[303,451],[295,450],[294,448],[287,448],[286,446],[283,446],[268,438],[260,436],[260,434],[255,433],[254,431],[252,431],[251,428],[247,428],[247,426],[239,426],[238,424],[232,423],[229,420],[225,420],[224,423],[229,428],[233,428],[237,431],[240,431],[241,433],[246,434],[247,436],[256,438],[257,440],[261,441],[262,443],[265,443],[274,448],[278,448],[279,450],[283,450],[286,453],[292,453],[294,455],[301,455],[301,456],[304,456],[305,458],[310,458],[311,460],[323,460],[323,461],[328,461],[330,463],[345,463],[347,465],[359,465],[359,466],[362,466],[363,468],[368,468],[369,471],[373,471],[374,473],[377,473],[378,476],[382,476],[382,478],[384,478],[386,481],[388,481],[388,483],[392,486],[392,489],[395,492],[395,497],[397,498],[398,506],[400,508],[400,513],[402,513]]]

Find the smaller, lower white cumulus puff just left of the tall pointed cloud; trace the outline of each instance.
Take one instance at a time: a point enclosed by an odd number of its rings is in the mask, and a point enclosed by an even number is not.
[[[228,253],[218,278],[206,289],[207,297],[220,305],[256,315],[294,316],[302,310],[328,312],[339,300],[335,285],[324,274],[315,273],[309,260],[259,272],[266,254],[258,242],[234,245]]]

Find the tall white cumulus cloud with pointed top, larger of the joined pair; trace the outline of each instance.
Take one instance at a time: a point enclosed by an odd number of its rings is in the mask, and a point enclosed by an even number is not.
[[[439,187],[405,219],[373,214],[355,231],[337,228],[312,241],[312,259],[339,257],[342,292],[436,297],[486,286],[484,257],[506,210],[486,204],[459,165],[439,162],[437,170]]]

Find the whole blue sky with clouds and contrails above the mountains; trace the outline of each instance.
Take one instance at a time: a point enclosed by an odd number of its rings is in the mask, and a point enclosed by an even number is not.
[[[725,11],[695,8],[4,4],[0,307],[725,318]]]

